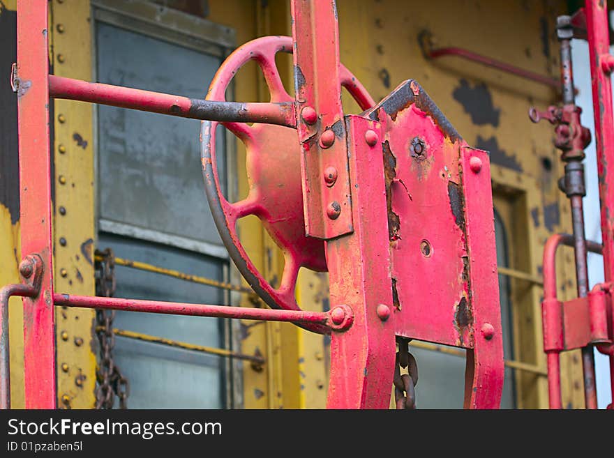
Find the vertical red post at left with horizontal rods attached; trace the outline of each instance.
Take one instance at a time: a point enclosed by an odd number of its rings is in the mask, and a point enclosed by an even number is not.
[[[17,5],[22,254],[43,260],[40,293],[24,298],[24,396],[26,409],[54,409],[55,333],[52,300],[51,151],[47,0]]]

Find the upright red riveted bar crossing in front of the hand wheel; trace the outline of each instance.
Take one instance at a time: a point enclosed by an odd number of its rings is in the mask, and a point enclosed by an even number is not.
[[[292,0],[294,90],[306,234],[328,240],[354,230],[334,1]],[[334,183],[324,182],[334,170]]]

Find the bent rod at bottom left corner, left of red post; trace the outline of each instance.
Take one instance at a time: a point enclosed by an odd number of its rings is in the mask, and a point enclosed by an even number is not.
[[[10,409],[10,346],[8,342],[8,299],[32,297],[38,290],[29,284],[8,284],[0,289],[0,409]]]

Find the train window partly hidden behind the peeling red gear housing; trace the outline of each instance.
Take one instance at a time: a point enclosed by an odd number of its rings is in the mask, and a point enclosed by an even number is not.
[[[504,223],[495,209],[495,237],[497,265],[509,267],[508,241]],[[506,360],[513,359],[511,295],[509,277],[499,275],[499,296],[503,328],[503,352]],[[465,351],[449,346],[423,348],[419,342],[410,344],[410,351],[418,363],[416,404],[419,409],[462,409],[465,390]],[[501,397],[502,409],[514,409],[516,397],[514,372],[506,367]]]

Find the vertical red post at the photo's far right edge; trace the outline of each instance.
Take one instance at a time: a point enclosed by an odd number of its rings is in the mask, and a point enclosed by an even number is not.
[[[610,81],[611,67],[608,66],[612,57],[610,56],[606,0],[586,0],[585,14],[597,144],[604,274],[606,282],[611,282],[614,280],[614,171],[612,169],[614,166],[614,117]],[[614,356],[610,357],[610,378],[614,404]]]

